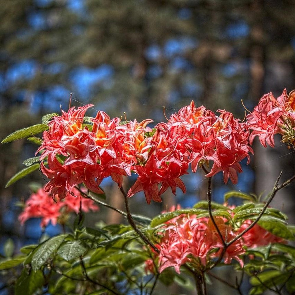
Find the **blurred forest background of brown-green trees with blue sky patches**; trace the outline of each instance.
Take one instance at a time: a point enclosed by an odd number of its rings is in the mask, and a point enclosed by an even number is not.
[[[97,110],[111,117],[126,112],[127,119],[157,123],[165,121],[163,106],[169,117],[194,100],[242,120],[241,99],[252,110],[264,93],[278,96],[295,88],[294,15],[294,0],[0,0],[0,139],[39,123],[44,114],[59,113],[60,106],[67,110],[70,93],[72,105],[95,105],[89,116]],[[29,196],[28,183],[45,183],[41,174],[4,189],[35,148],[26,140],[0,146],[2,253],[8,238],[17,251],[42,233],[40,220],[22,227],[17,220],[17,203]],[[254,150],[236,186],[225,186],[222,173],[215,177],[215,201],[222,202],[231,189],[267,192],[280,170],[284,179],[294,173],[295,154],[279,138],[275,149],[255,141]],[[183,180],[185,197],[167,192],[162,204],[148,206],[138,194],[130,199],[133,212],[154,216],[172,204],[188,207],[205,198],[202,173]],[[128,180],[124,185],[130,186]],[[122,208],[112,182],[106,179],[103,186],[107,201]],[[290,222],[295,222],[294,189],[280,191],[272,203]],[[100,219],[124,222],[103,208],[86,222]],[[50,225],[45,233],[59,230]],[[219,288],[218,294],[232,294]]]

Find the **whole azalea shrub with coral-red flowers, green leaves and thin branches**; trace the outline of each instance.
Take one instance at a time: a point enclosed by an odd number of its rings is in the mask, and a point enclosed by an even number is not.
[[[212,201],[212,177],[222,172],[225,184],[237,183],[240,162],[250,162],[256,136],[264,147],[274,147],[273,136],[280,134],[294,148],[294,100],[295,91],[288,95],[284,90],[278,98],[265,94],[242,122],[228,111],[215,113],[192,101],[154,127],[151,119],[123,121],[103,111],[87,117],[93,106],[88,104],[45,115],[41,124],[7,136],[2,143],[27,138],[38,148],[6,186],[37,169],[47,178],[24,203],[20,223],[38,217],[41,227],[61,224],[63,233],[25,245],[14,256],[8,251],[0,260],[0,271],[9,277],[5,287],[17,295],[151,295],[160,284],[176,283],[190,294],[204,295],[214,279],[243,294],[247,274],[249,294],[294,293],[290,241],[295,228],[269,204],[295,175],[281,181],[281,172],[266,198],[229,191],[223,204]],[[37,137],[41,132],[42,138]],[[208,181],[207,201],[192,208],[174,206],[153,218],[130,212],[129,201],[140,191],[146,206],[161,202],[167,189],[186,194],[181,176],[198,169]],[[125,190],[123,177],[132,175],[137,179]],[[107,177],[118,186],[125,211],[108,204],[112,196],[101,187]],[[232,197],[243,202],[229,205]],[[126,223],[86,227],[84,214],[99,214],[101,206],[122,214]],[[230,267],[235,281],[219,277],[213,271],[219,266]]]

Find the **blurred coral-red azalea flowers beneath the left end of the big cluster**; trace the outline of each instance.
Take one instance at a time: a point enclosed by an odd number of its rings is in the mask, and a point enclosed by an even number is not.
[[[25,203],[24,211],[19,214],[19,221],[24,224],[30,218],[41,218],[41,227],[46,227],[49,222],[56,225],[61,223],[62,217],[71,212],[97,211],[99,207],[91,199],[83,197],[77,189],[73,189],[76,196],[68,194],[63,201],[54,200],[44,188],[38,189],[30,195]]]

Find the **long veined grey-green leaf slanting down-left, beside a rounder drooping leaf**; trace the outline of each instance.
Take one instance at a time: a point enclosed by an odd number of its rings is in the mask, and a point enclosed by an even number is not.
[[[68,234],[52,237],[40,244],[34,250],[31,260],[31,266],[33,271],[37,271],[45,263],[45,261],[60,246],[60,244],[66,237],[68,237]]]

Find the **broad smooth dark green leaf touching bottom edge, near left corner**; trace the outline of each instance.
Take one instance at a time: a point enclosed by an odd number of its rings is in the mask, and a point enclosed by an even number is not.
[[[42,271],[30,271],[24,268],[22,274],[15,282],[15,295],[32,295],[45,283]]]

